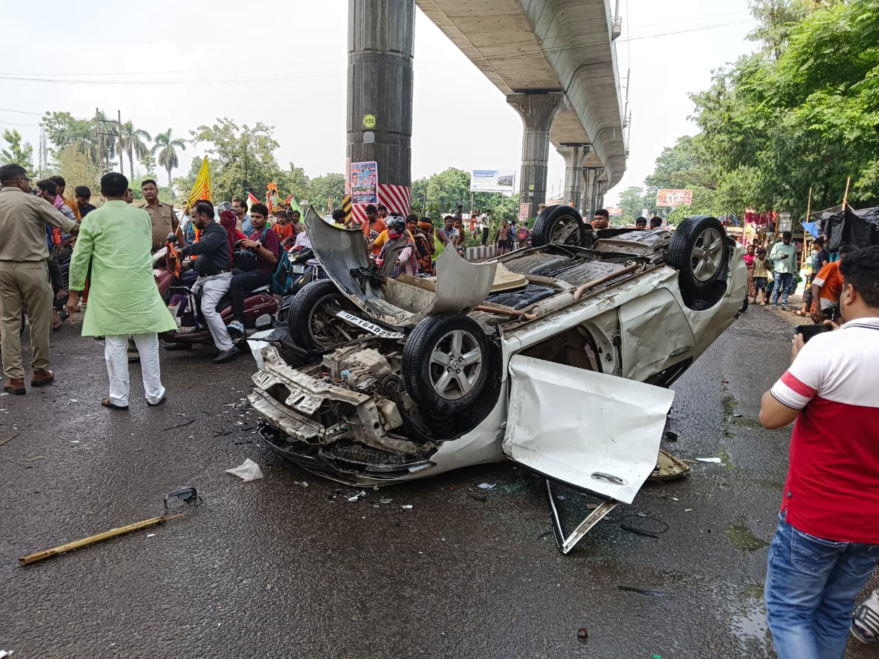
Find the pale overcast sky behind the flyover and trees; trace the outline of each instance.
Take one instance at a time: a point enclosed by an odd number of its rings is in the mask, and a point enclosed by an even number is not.
[[[40,5],[40,14],[63,17],[52,28],[33,12],[4,14],[0,127],[17,128],[34,156],[40,114],[87,117],[100,107],[113,116],[120,110],[123,121],[150,134],[171,127],[183,138],[216,117],[263,121],[275,127],[284,166],[293,161],[310,177],[344,169],[345,0],[218,0],[209,11],[165,0],[70,7]],[[631,69],[631,154],[607,205],[628,185],[642,184],[663,148],[693,134],[687,92],[705,89],[712,69],[754,48],[745,40],[754,25],[746,0],[628,0],[628,7],[620,0],[620,12],[623,85]],[[518,170],[521,134],[504,96],[418,11],[412,178],[450,166]],[[550,151],[549,194],[564,176],[561,157]],[[175,176],[201,155],[187,148]]]

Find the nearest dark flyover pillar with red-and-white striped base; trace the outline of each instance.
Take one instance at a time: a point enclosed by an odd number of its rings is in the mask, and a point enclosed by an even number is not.
[[[379,201],[386,196],[403,214],[412,185],[414,40],[415,0],[348,0],[347,156],[378,163]]]

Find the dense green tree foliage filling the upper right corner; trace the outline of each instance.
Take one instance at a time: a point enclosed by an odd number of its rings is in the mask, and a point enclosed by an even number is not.
[[[849,199],[879,204],[879,0],[754,0],[763,53],[691,95],[701,133],[666,148],[645,183],[694,191],[688,213],[745,206],[802,217]],[[679,209],[683,211],[683,209]]]

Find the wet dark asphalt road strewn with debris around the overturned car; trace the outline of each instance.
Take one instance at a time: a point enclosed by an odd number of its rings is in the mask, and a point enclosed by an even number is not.
[[[546,534],[541,483],[510,463],[331,501],[335,483],[251,434],[253,415],[235,405],[250,358],[163,352],[169,402],[148,409],[133,366],[132,407],[113,412],[98,404],[102,344],[66,326],[55,385],[0,397],[0,441],[18,433],[0,446],[0,648],[15,659],[773,657],[761,583],[789,429],[756,419],[792,324],[752,307],[675,386],[679,440],[665,448],[723,463],[646,487],[568,556]],[[264,480],[224,473],[245,458]],[[487,500],[468,496],[482,482],[497,484]],[[18,565],[159,515],[181,485],[204,497],[184,518]],[[587,501],[565,495],[576,523]],[[856,645],[846,656],[872,655]]]

